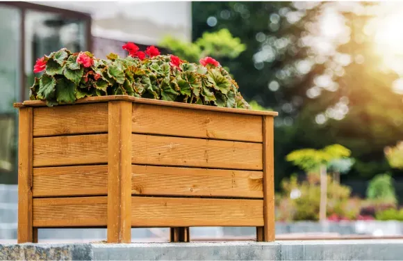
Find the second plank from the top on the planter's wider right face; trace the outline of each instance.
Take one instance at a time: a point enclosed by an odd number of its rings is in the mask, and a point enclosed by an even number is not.
[[[132,163],[262,170],[262,144],[133,134]]]

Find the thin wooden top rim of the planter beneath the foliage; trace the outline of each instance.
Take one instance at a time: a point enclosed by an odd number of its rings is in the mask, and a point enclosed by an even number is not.
[[[80,100],[77,100],[75,104],[85,104],[85,103],[94,103],[94,102],[109,102],[114,100],[124,100],[134,103],[141,104],[154,104],[161,106],[171,106],[171,107],[179,107],[179,108],[188,108],[188,109],[199,109],[204,111],[221,111],[227,113],[241,113],[241,114],[250,114],[250,115],[261,115],[261,116],[278,116],[279,113],[277,111],[255,111],[248,109],[235,109],[235,108],[225,108],[225,107],[217,107],[217,106],[208,106],[208,105],[199,105],[199,104],[188,104],[183,102],[168,102],[163,100],[154,100],[154,99],[146,99],[133,97],[129,95],[108,95],[108,96],[99,96],[99,97],[86,97]],[[71,104],[67,104],[71,105]],[[37,107],[37,106],[47,106],[46,102],[40,100],[27,100],[24,102],[17,102],[13,104],[15,108],[22,107]]]

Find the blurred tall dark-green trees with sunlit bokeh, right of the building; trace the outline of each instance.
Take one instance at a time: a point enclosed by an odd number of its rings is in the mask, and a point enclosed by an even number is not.
[[[390,171],[383,150],[403,136],[403,106],[390,88],[398,75],[380,66],[368,31],[378,5],[192,3],[192,37],[225,28],[240,38],[247,49],[225,64],[246,99],[280,112],[274,122],[277,185],[295,171],[283,162],[290,151],[329,143],[352,150],[356,163],[347,179]]]

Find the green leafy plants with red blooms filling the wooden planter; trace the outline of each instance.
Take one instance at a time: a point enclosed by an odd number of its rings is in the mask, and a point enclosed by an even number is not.
[[[73,54],[60,49],[38,59],[34,72],[42,72],[31,87],[31,100],[48,106],[73,104],[90,96],[131,95],[158,100],[249,109],[236,81],[211,57],[200,65],[161,55],[156,47],[140,52],[129,42],[129,56],[109,54],[95,58],[90,52]]]

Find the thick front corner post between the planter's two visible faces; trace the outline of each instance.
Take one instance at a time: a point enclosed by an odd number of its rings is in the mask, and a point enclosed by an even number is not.
[[[132,103],[108,103],[108,243],[130,243]]]

